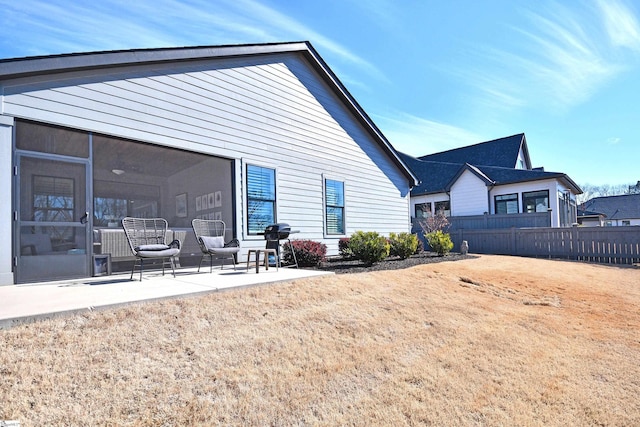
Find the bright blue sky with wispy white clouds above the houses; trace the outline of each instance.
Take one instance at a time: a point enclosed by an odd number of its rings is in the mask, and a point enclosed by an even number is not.
[[[308,40],[400,151],[524,132],[534,166],[640,180],[640,4],[0,0],[0,58]]]

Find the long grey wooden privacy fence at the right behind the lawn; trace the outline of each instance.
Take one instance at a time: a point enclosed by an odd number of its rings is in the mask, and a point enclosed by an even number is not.
[[[640,262],[640,226],[509,228],[449,231],[458,251],[538,258],[565,258],[604,264]]]

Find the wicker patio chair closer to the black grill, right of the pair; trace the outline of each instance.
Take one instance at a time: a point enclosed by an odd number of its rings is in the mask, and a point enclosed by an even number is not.
[[[240,252],[240,242],[237,239],[225,242],[224,233],[226,226],[224,221],[194,219],[191,221],[193,232],[202,251],[202,258],[198,264],[198,272],[205,257],[209,257],[209,272],[213,271],[213,259],[221,259],[220,269],[224,268],[224,260],[231,259],[233,269],[236,269],[236,255]]]

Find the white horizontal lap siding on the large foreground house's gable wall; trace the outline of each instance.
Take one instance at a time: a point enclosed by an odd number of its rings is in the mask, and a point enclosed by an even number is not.
[[[297,54],[135,66],[3,83],[3,114],[275,168],[277,220],[324,241],[323,174],[345,182],[347,234],[409,230],[409,183]],[[7,143],[6,139],[2,141]],[[243,215],[244,176],[237,176]],[[244,253],[264,241],[238,235]]]

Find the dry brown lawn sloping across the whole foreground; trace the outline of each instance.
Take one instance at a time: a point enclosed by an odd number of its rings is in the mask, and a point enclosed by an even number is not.
[[[481,256],[0,331],[0,420],[640,425],[640,270]]]

